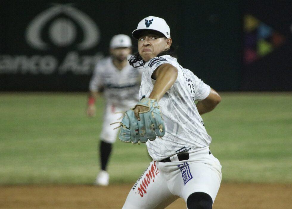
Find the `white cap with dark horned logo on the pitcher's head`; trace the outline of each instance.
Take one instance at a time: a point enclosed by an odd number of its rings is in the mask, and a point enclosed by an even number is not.
[[[136,30],[132,32],[135,39],[139,39],[139,35],[144,30],[156,30],[162,33],[166,38],[170,38],[170,29],[166,21],[160,17],[149,16],[142,19]]]

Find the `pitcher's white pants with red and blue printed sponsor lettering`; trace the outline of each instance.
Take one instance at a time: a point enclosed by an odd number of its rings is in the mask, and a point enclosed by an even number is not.
[[[152,161],[132,187],[123,209],[165,208],[178,197],[187,202],[194,192],[207,193],[214,202],[222,176],[220,162],[208,147],[189,155],[184,161],[176,155],[170,158],[172,162]]]

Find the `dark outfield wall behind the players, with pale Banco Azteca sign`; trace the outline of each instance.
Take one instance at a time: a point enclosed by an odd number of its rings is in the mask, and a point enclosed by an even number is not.
[[[169,24],[178,62],[216,90],[292,90],[289,5],[234,0],[2,0],[0,90],[87,91],[93,66],[108,55],[111,37],[131,36],[139,21],[150,15]],[[248,63],[246,14],[284,37],[270,53]],[[136,51],[136,40],[132,41]]]

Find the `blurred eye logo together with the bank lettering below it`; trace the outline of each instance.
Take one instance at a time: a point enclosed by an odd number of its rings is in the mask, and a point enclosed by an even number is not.
[[[25,34],[23,41],[39,52],[0,54],[0,74],[90,75],[93,66],[103,58],[102,52],[95,49],[100,40],[96,23],[72,4],[54,4],[27,25],[21,31]],[[56,48],[60,53],[55,52]]]

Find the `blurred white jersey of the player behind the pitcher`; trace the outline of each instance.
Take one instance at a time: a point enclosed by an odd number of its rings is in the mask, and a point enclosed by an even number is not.
[[[117,106],[133,106],[139,101],[138,90],[141,81],[141,69],[131,65],[118,70],[112,57],[99,61],[89,84],[89,90],[104,89],[107,103]]]

